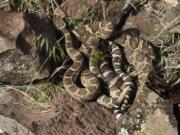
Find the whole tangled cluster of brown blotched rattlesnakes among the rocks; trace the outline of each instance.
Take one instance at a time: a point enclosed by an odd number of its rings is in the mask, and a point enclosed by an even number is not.
[[[122,71],[122,53],[119,46],[124,47],[126,58],[138,72],[139,88],[143,89],[152,71],[154,52],[144,40],[123,34],[115,41],[108,41],[111,48],[110,57],[99,49],[100,41],[106,40],[113,32],[113,24],[108,21],[95,22],[74,29],[73,33],[81,41],[81,47],[76,49],[71,32],[67,29],[66,21],[55,12],[53,23],[65,37],[66,51],[73,64],[64,74],[65,90],[76,100],[86,101],[96,99],[97,103],[107,108],[114,108],[116,118],[129,108],[135,85],[130,76]],[[103,59],[92,60],[92,52],[102,54]],[[85,58],[89,58],[89,68],[84,69]],[[80,75],[82,86],[78,86]],[[108,84],[108,95],[103,94],[101,80]]]

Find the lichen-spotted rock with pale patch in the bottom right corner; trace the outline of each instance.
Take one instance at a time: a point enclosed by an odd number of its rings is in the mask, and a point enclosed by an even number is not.
[[[178,135],[173,104],[144,90],[117,124],[118,135]]]

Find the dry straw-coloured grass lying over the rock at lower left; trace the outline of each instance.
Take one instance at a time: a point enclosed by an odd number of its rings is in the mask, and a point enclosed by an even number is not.
[[[29,90],[27,91],[27,89]],[[23,102],[17,101],[17,103],[13,102],[13,104],[23,105],[24,107],[38,113],[44,113],[55,109],[49,103],[56,98],[54,94],[59,93],[59,91],[64,93],[63,86],[56,86],[49,82],[34,84],[31,86],[0,85],[0,95],[13,95],[13,93],[16,93],[16,98],[22,99],[20,101]]]

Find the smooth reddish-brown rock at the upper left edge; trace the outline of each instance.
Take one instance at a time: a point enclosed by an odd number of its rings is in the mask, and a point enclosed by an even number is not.
[[[16,39],[24,27],[22,13],[0,11],[0,53],[16,48]]]

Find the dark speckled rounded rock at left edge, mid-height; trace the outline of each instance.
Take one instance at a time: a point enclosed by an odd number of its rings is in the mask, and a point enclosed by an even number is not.
[[[38,59],[33,59],[18,50],[9,50],[0,54],[0,81],[22,85],[32,80],[48,77],[47,69],[42,69]]]

